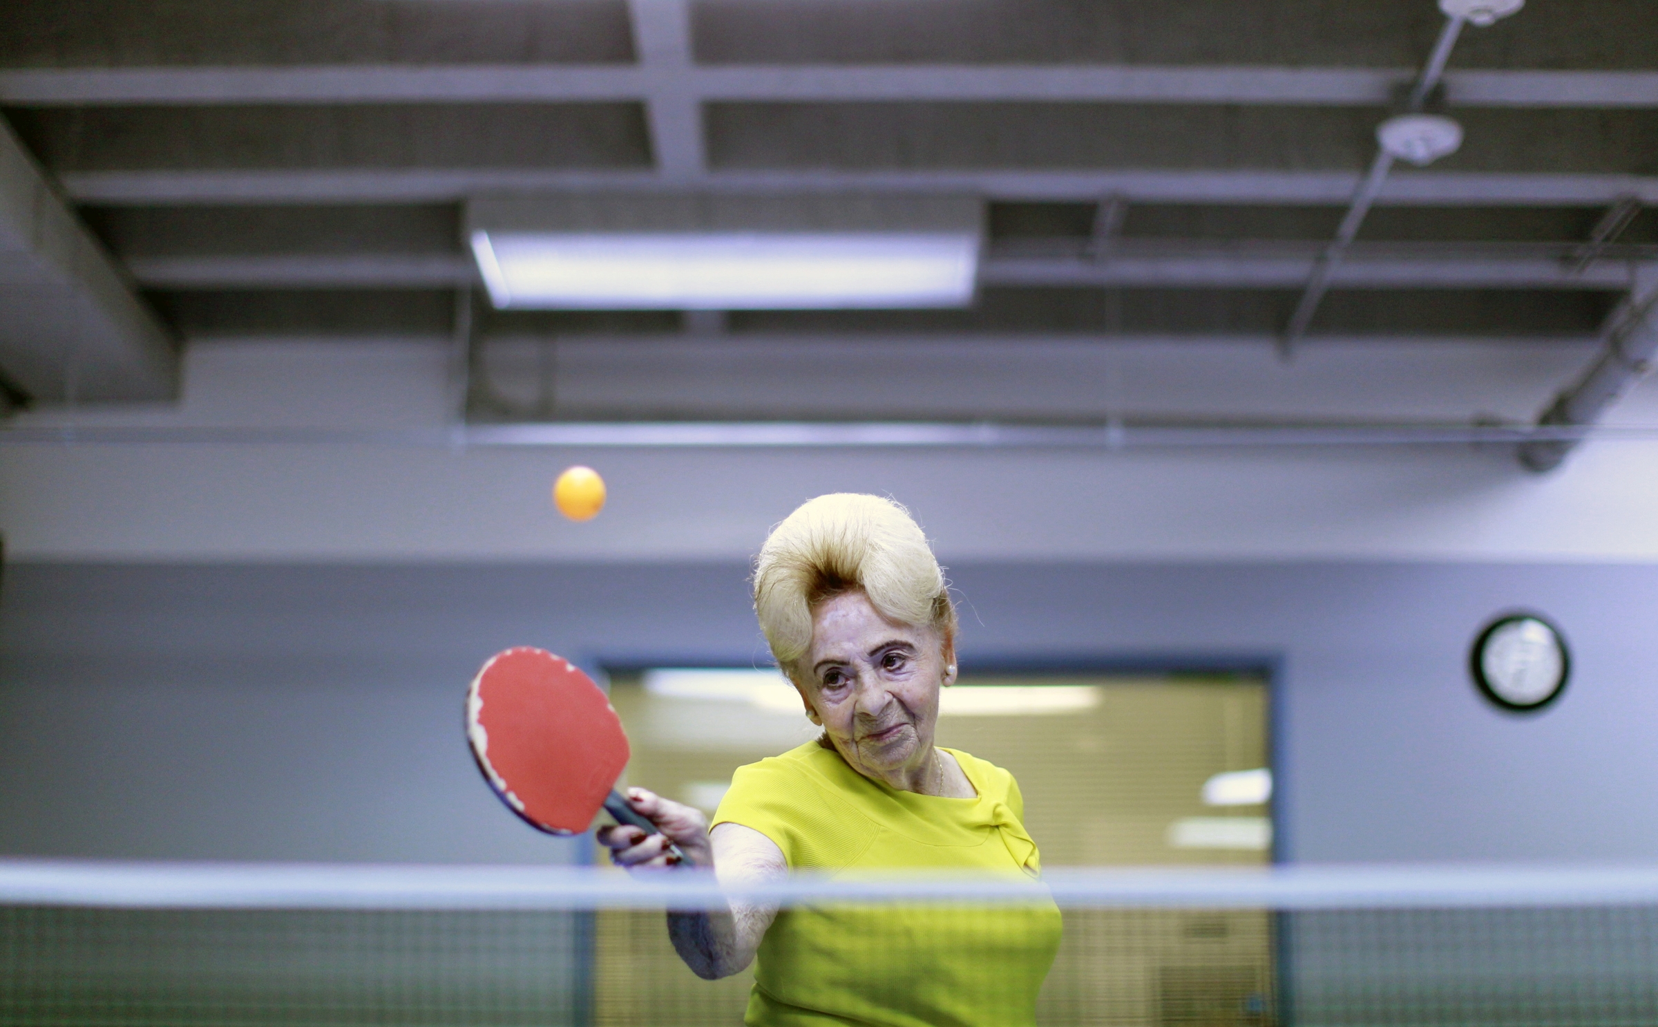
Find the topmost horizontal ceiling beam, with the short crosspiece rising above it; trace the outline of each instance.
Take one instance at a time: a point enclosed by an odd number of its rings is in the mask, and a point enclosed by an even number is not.
[[[678,12],[675,10],[678,8]],[[638,65],[12,68],[15,106],[259,103],[1093,101],[1384,106],[1411,68],[690,63],[683,0],[635,0]],[[1449,71],[1454,106],[1653,108],[1655,71]]]

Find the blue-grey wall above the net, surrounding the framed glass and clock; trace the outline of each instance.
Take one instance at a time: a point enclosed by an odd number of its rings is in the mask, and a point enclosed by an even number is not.
[[[1287,859],[1658,854],[1658,567],[952,567],[963,662],[1267,665]],[[7,569],[0,853],[554,861],[476,778],[484,655],[758,662],[739,564]],[[1567,695],[1487,707],[1499,611],[1568,634]]]

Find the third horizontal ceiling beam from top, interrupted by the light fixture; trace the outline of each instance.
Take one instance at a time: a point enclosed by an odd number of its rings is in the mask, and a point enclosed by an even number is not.
[[[1106,260],[1079,256],[991,252],[985,285],[1094,285],[1176,289],[1293,289],[1307,280],[1316,244],[1290,247],[1119,244]],[[471,259],[453,254],[131,257],[133,277],[151,289],[449,289],[471,285]],[[1603,260],[1583,272],[1535,254],[1502,256],[1467,247],[1358,249],[1331,279],[1348,289],[1628,289],[1628,269]]]

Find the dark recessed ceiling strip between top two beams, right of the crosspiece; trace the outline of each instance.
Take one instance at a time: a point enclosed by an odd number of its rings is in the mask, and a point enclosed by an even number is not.
[[[1108,103],[715,103],[718,168],[1157,168],[1345,171],[1374,156],[1383,108]],[[1434,173],[1651,174],[1653,110],[1457,111]],[[1398,173],[1399,179],[1411,174]]]

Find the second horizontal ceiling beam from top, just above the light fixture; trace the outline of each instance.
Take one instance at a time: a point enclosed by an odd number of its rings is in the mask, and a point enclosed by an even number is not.
[[[1346,204],[1356,171],[711,171],[708,192],[968,192],[998,201]],[[491,168],[144,169],[68,171],[83,204],[458,202],[481,192],[660,191],[683,187],[655,171]],[[1411,171],[1388,179],[1378,206],[1607,206],[1620,197],[1658,204],[1658,176]]]

